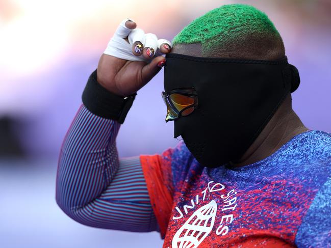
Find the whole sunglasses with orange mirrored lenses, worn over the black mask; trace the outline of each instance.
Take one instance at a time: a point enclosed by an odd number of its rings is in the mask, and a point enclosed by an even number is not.
[[[167,106],[165,121],[174,121],[182,116],[191,114],[198,105],[198,96],[192,90],[172,90],[162,92],[162,98]]]

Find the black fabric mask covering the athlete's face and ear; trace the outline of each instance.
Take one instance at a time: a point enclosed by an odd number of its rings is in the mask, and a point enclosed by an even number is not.
[[[198,105],[174,121],[199,163],[218,167],[241,155],[269,122],[289,92],[299,86],[287,58],[276,61],[166,56],[164,88],[194,88]]]

